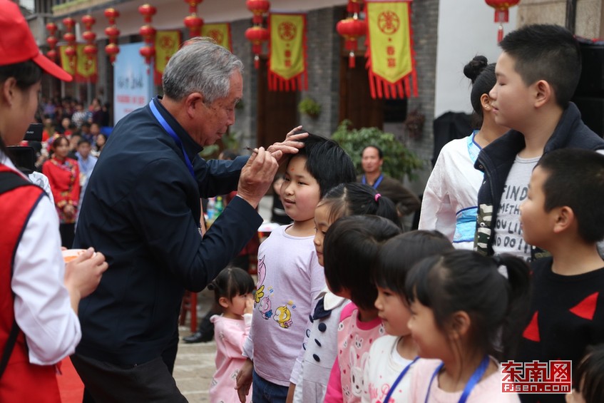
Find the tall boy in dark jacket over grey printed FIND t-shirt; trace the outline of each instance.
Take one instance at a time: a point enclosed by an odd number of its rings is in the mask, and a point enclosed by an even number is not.
[[[581,71],[579,44],[570,31],[523,26],[499,44],[497,83],[488,96],[495,122],[512,130],[483,148],[474,165],[484,172],[474,248],[534,260],[547,253],[523,240],[519,206],[537,161],[558,148],[600,150],[604,140],[570,102]]]

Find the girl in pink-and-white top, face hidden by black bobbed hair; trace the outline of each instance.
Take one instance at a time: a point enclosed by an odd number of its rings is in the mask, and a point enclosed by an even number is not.
[[[386,218],[353,215],[337,220],[324,243],[325,280],[335,295],[352,300],[342,310],[337,357],[327,383],[325,402],[360,402],[369,347],[384,335],[374,301],[372,266],[379,248],[400,229]]]

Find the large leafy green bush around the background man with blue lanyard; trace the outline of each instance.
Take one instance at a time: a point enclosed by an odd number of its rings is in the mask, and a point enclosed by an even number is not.
[[[416,153],[397,141],[392,133],[384,133],[379,128],[353,129],[351,122],[342,121],[332,135],[342,148],[350,155],[357,172],[362,173],[361,154],[367,146],[378,146],[384,153],[382,172],[391,178],[402,180],[416,178],[415,171],[424,167],[424,161]]]

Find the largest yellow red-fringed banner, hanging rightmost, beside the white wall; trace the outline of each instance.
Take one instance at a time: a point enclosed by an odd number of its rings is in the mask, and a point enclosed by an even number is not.
[[[372,98],[417,96],[411,0],[367,0],[367,69]]]

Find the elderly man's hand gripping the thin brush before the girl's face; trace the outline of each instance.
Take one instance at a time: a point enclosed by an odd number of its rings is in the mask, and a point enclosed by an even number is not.
[[[250,203],[253,208],[257,208],[260,199],[272,185],[277,168],[279,164],[272,153],[265,151],[263,147],[258,148],[241,170],[237,195]]]

